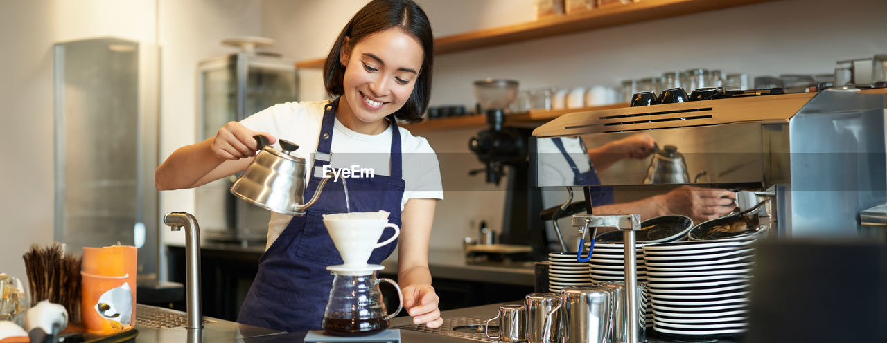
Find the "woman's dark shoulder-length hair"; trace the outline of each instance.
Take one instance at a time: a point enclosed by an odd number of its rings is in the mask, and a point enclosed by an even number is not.
[[[330,96],[339,96],[345,93],[342,87],[342,79],[345,67],[339,62],[342,45],[345,37],[349,37],[349,50],[353,51],[357,42],[367,35],[387,30],[391,27],[399,27],[407,34],[411,34],[422,45],[424,58],[422,69],[413,85],[410,98],[404,103],[404,107],[397,110],[396,118],[408,123],[418,123],[422,120],[422,113],[428,108],[428,100],[431,97],[431,71],[434,65],[434,35],[431,34],[431,24],[425,11],[412,0],[373,0],[342,28],[339,37],[333,44],[329,56],[324,64],[324,86]]]

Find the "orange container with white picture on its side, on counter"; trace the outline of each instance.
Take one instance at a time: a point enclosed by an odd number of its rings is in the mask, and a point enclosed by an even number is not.
[[[136,320],[136,247],[83,248],[82,321],[93,333],[130,329]]]

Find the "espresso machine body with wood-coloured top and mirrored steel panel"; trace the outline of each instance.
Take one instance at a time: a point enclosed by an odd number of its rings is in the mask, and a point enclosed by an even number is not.
[[[858,213],[887,201],[884,113],[883,94],[857,90],[570,113],[533,131],[531,186],[598,186],[565,177],[569,158],[546,148],[555,141],[582,141],[590,149],[648,133],[668,148],[599,170],[600,185],[768,191],[775,194],[772,225],[780,236],[858,235],[867,230]],[[674,160],[678,151],[687,177],[650,182],[653,159]]]

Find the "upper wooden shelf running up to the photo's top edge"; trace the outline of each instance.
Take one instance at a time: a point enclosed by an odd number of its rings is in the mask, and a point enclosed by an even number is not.
[[[543,17],[506,27],[493,27],[435,39],[435,54],[490,48],[513,42],[573,34],[602,27],[638,23],[701,11],[714,11],[744,4],[775,0],[640,0],[569,15]],[[326,58],[296,62],[296,68],[323,68]]]

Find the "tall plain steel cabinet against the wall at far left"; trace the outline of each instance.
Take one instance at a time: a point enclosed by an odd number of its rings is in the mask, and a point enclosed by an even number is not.
[[[158,49],[115,38],[54,47],[55,240],[138,249],[157,261]]]

